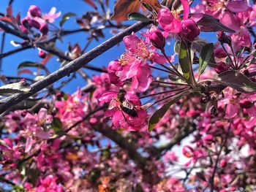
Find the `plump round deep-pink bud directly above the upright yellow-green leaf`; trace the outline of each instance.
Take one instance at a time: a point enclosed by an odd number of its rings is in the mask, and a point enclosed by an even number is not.
[[[192,19],[182,20],[181,21],[181,32],[180,34],[189,41],[194,41],[195,37],[200,34],[200,29]]]

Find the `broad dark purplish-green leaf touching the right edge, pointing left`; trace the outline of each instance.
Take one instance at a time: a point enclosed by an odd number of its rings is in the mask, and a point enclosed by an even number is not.
[[[256,83],[252,82],[241,72],[227,71],[219,74],[220,80],[217,80],[222,85],[227,85],[242,93],[255,93]]]

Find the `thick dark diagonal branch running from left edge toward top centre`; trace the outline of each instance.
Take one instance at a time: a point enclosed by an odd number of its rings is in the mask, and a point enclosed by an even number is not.
[[[111,47],[117,45],[125,36],[131,34],[132,31],[139,31],[140,29],[148,26],[149,24],[150,22],[135,23],[134,25],[122,31],[121,33],[116,34],[116,36],[103,42],[101,45],[98,45],[94,49],[90,50],[88,53],[85,53],[81,55],[79,58],[76,58],[74,61],[69,62],[69,64],[61,67],[61,69],[57,70],[56,72],[53,72],[52,74],[49,74],[42,80],[35,82],[31,85],[31,91],[29,93],[16,93],[12,96],[7,97],[6,99],[1,100],[0,112],[4,112],[13,105],[18,104],[18,102],[29,98],[29,96],[34,95],[34,93],[37,93],[43,88],[47,88],[49,85],[53,84],[53,82],[60,80],[61,78],[71,74],[72,72],[78,71],[78,69],[88,64],[89,61],[92,61],[94,58],[97,58],[97,56],[101,55],[102,53],[105,53],[105,51],[109,50]]]

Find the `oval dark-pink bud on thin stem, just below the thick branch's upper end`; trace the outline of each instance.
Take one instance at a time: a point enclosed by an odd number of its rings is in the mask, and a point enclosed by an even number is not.
[[[157,49],[162,50],[165,47],[165,37],[157,27],[152,27],[149,31],[149,40]]]

